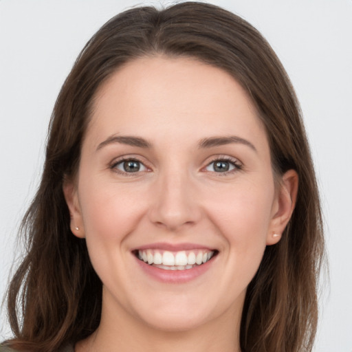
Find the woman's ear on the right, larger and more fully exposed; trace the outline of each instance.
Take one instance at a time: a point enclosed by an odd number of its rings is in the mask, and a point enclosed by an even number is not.
[[[273,206],[272,220],[267,233],[267,245],[274,245],[281,239],[296,205],[298,192],[298,175],[295,170],[288,170],[282,177]]]

